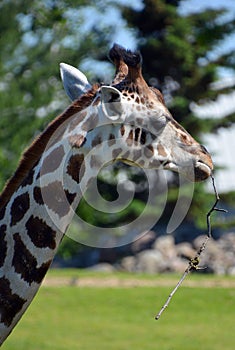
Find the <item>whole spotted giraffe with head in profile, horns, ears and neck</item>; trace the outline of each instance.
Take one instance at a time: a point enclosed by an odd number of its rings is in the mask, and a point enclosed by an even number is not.
[[[0,195],[0,344],[32,302],[84,189],[107,160],[171,169],[192,181],[213,170],[207,150],[145,82],[141,55],[115,44],[109,56],[116,66],[110,85],[91,86],[73,69],[64,75],[74,101],[23,153]]]

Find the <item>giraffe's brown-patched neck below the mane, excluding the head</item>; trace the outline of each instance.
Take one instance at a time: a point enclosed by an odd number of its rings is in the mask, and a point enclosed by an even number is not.
[[[70,125],[6,204],[0,218],[0,344],[36,294],[89,181],[107,162],[127,159],[137,136],[120,124],[86,136]],[[132,152],[141,157],[140,147]]]

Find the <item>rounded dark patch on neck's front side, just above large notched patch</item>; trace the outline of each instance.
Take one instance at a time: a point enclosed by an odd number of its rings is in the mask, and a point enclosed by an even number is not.
[[[45,221],[37,216],[31,216],[25,227],[28,236],[36,247],[55,249],[56,232]]]

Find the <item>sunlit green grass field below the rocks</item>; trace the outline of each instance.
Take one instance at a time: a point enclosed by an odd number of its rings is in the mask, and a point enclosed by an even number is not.
[[[92,278],[113,281],[115,276],[74,270],[50,272],[48,283],[41,287],[2,349],[234,349],[235,288],[229,287],[234,286],[234,279],[189,276],[188,281],[194,281],[196,287],[181,287],[156,321],[154,316],[178,276],[118,274],[119,286],[79,284]],[[66,278],[70,285],[66,285]],[[50,285],[50,280],[57,283]],[[125,285],[132,280],[133,286]]]

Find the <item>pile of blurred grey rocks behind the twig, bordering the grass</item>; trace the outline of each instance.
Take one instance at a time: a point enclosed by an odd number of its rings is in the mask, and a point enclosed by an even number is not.
[[[175,245],[173,236],[161,236],[155,240],[152,249],[122,259],[121,266],[130,272],[182,273],[188,266],[188,260],[200,249],[205,237],[197,237],[192,244],[183,242]],[[139,247],[136,246],[137,251]],[[224,234],[218,240],[211,238],[200,255],[199,266],[206,267],[202,273],[235,276],[235,234],[232,232]]]

